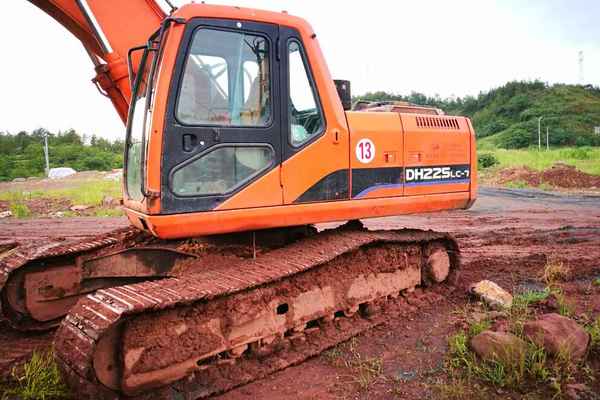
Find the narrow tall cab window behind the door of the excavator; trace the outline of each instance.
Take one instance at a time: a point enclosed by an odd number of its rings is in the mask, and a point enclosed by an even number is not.
[[[290,143],[298,147],[323,130],[323,114],[300,43],[288,44]]]

